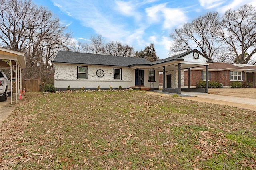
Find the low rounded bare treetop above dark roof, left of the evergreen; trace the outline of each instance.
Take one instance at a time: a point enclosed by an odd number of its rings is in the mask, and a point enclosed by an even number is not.
[[[121,42],[109,42],[104,46],[104,54],[133,57],[134,50],[133,47],[129,45],[122,45]]]

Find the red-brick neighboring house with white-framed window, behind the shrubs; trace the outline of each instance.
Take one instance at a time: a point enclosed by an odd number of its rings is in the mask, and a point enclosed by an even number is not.
[[[238,64],[236,66],[228,63],[214,62],[209,65],[209,81],[218,81],[224,88],[230,88],[230,82],[252,82],[255,87],[256,65]],[[200,80],[205,81],[205,68],[200,66],[191,68],[191,87],[196,87]],[[184,85],[188,86],[188,70],[184,70]]]

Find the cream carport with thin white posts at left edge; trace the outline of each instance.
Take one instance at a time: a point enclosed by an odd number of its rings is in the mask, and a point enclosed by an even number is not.
[[[18,103],[18,94],[20,91],[22,91],[22,68],[26,67],[27,65],[25,53],[20,53],[18,51],[0,47],[0,69],[10,69],[10,79],[14,80],[11,83],[11,104],[13,100],[16,100],[16,103]],[[13,95],[14,90],[16,91],[16,96]]]

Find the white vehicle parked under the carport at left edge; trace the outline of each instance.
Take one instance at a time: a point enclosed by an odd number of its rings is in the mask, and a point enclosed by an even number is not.
[[[11,96],[11,80],[6,74],[0,71],[0,101],[6,101],[7,96]]]

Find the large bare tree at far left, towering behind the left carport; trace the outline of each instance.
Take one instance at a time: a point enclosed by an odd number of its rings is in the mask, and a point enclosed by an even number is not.
[[[56,50],[65,49],[70,38],[59,19],[31,0],[5,0],[0,11],[0,45],[26,53],[24,77],[39,77],[37,62],[42,67],[52,68],[50,61]]]

